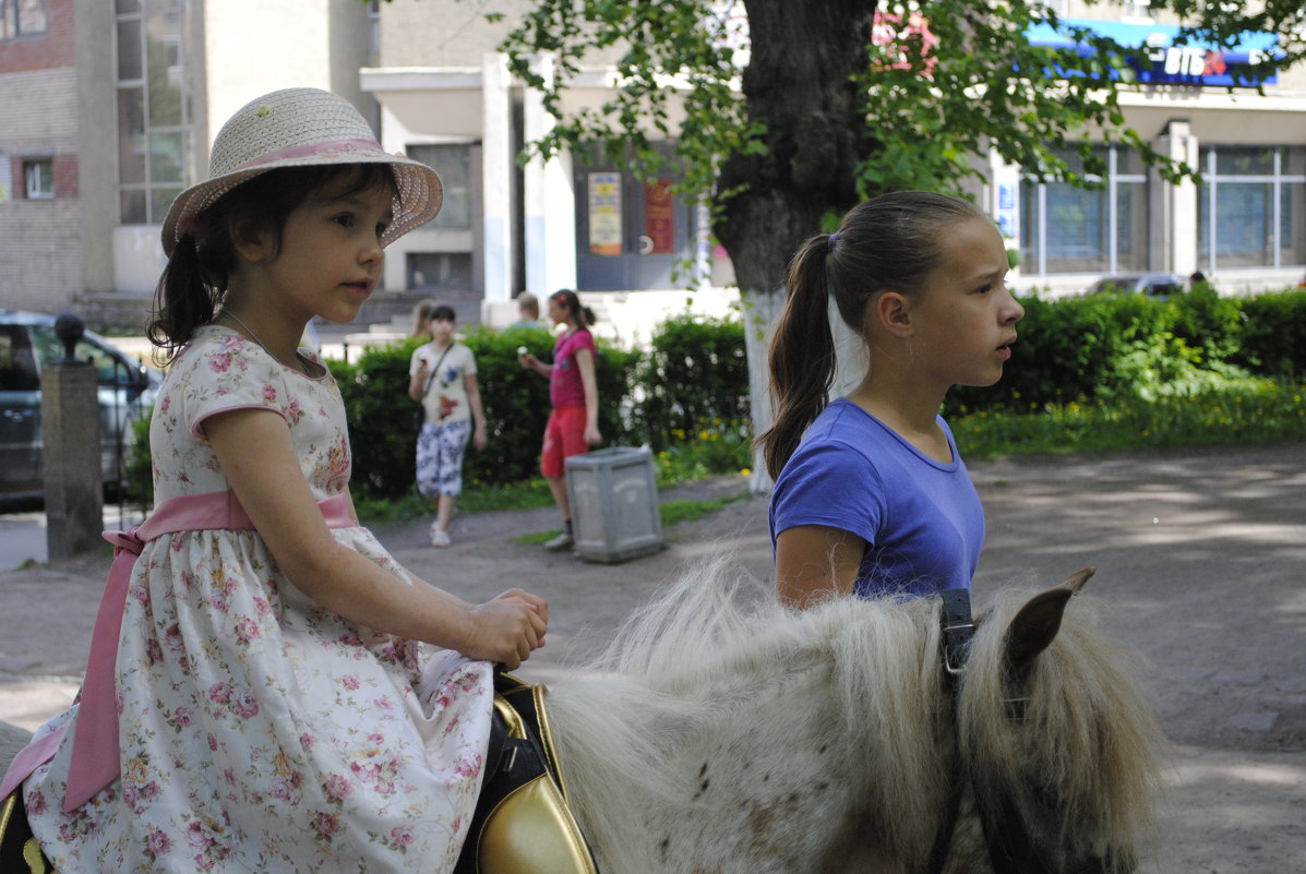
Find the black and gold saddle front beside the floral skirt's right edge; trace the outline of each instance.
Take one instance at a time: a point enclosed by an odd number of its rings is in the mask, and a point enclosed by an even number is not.
[[[456,874],[598,874],[567,803],[545,691],[495,675],[485,785]]]

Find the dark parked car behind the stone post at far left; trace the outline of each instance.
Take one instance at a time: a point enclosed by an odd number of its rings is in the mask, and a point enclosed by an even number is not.
[[[112,491],[123,479],[131,423],[154,402],[161,380],[89,331],[74,353],[98,374],[101,468]],[[54,316],[0,310],[0,498],[35,498],[42,491],[40,368],[63,357]]]

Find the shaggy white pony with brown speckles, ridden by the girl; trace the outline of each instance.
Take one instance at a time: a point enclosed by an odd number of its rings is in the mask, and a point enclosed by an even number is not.
[[[794,613],[727,568],[684,576],[550,688],[603,874],[1135,869],[1162,738],[1091,605],[1062,622],[1091,570],[995,594],[952,679],[938,600]]]

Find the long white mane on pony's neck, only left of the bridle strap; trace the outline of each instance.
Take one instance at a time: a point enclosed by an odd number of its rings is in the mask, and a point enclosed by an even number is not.
[[[603,679],[554,685],[551,708],[567,726],[564,763],[572,771],[575,759],[584,771],[575,781],[584,786],[577,806],[597,828],[619,834],[635,824],[624,814],[632,779],[649,797],[683,805],[695,775],[660,767],[667,747],[678,746],[667,732],[688,739],[759,687],[802,685],[810,674],[837,699],[831,709],[838,721],[827,726],[832,743],[874,734],[878,749],[895,751],[867,750],[859,763],[859,803],[892,823],[883,841],[901,853],[927,848],[936,823],[921,780],[939,762],[934,732],[922,726],[932,725],[939,707],[936,615],[927,600],[837,598],[795,611],[739,571],[730,554],[690,568],[584,669]],[[904,674],[912,679],[902,682]],[[599,721],[598,713],[645,713],[650,721]],[[632,763],[641,766],[637,775]]]

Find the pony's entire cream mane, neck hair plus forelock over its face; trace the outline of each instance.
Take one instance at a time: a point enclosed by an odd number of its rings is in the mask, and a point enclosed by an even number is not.
[[[1032,763],[1063,793],[1067,819],[1093,844],[1132,848],[1156,789],[1160,733],[1132,662],[1093,630],[1096,611],[1083,596],[1040,658],[1028,730],[1012,739],[1003,640],[1030,594],[995,593],[978,622],[960,707],[970,767],[978,781],[996,785],[1016,767],[1028,773]],[[845,806],[855,803],[884,857],[923,858],[951,780],[940,746],[953,737],[940,688],[938,617],[932,598],[832,598],[799,613],[780,605],[730,554],[690,568],[626,622],[584,669],[585,679],[551,685],[577,813],[610,847],[646,841],[650,819],[632,817],[632,803],[684,809],[697,797],[704,771],[699,759],[677,764],[678,750],[701,745],[734,711],[767,721],[759,736],[791,732],[785,720],[798,717],[784,712],[788,702],[790,711],[828,709],[824,737],[844,747],[845,767],[865,771]],[[761,709],[757,699],[772,690],[778,703]],[[795,703],[794,690],[808,698]]]

